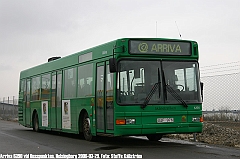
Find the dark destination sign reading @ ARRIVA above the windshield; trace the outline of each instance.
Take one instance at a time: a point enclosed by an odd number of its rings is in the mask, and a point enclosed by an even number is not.
[[[131,40],[129,45],[131,54],[191,55],[190,42]]]

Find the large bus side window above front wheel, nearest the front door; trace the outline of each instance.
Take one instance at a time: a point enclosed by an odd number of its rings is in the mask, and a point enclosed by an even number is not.
[[[78,67],[78,97],[93,95],[93,64]]]

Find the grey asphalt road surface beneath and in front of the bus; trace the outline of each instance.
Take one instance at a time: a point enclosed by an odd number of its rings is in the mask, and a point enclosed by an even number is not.
[[[11,157],[237,159],[240,149],[168,138],[151,142],[145,137],[102,137],[97,142],[88,142],[77,135],[36,133],[17,122],[0,120],[0,158]]]

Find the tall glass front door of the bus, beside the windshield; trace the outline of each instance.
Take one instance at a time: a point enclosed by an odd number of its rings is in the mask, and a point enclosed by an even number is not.
[[[108,61],[97,64],[96,78],[96,125],[97,133],[113,133],[113,74]]]

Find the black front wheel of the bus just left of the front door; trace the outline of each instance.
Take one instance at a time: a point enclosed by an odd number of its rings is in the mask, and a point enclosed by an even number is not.
[[[96,137],[91,133],[91,122],[87,113],[83,115],[82,131],[85,140],[94,141],[96,139]]]

